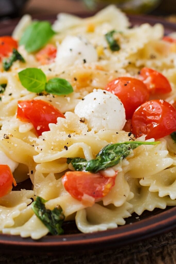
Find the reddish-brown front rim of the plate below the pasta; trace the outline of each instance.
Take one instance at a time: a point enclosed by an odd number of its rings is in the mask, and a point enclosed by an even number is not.
[[[17,250],[25,248],[33,252],[38,252],[39,248],[42,252],[57,252],[58,248],[65,251],[68,247],[69,251],[84,250],[85,247],[86,250],[100,247],[110,248],[143,240],[174,228],[176,228],[176,207],[136,223],[89,234],[46,236],[38,241],[1,234],[0,245],[1,249],[14,249],[15,246]]]

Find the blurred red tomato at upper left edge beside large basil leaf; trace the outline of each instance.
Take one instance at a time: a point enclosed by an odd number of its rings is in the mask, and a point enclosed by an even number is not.
[[[11,53],[14,48],[17,49],[17,47],[17,41],[12,37],[0,37],[0,58],[7,57],[9,53]]]

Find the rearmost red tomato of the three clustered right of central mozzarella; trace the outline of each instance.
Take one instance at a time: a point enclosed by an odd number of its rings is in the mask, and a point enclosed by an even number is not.
[[[140,78],[146,84],[150,93],[169,93],[172,91],[168,79],[156,70],[142,68]]]

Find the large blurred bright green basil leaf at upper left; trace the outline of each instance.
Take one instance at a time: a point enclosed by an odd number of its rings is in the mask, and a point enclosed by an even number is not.
[[[27,52],[39,50],[55,34],[48,21],[35,21],[24,31],[20,45],[24,45]]]

